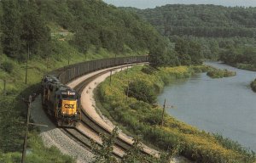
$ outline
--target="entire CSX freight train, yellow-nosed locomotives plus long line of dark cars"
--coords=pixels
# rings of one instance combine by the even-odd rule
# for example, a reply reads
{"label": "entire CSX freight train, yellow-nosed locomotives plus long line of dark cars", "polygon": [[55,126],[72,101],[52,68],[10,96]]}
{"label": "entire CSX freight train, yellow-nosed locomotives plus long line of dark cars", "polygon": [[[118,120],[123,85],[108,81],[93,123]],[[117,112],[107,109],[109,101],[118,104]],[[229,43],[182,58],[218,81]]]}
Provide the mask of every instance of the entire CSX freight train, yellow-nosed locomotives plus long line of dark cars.
{"label": "entire CSX freight train, yellow-nosed locomotives plus long line of dark cars", "polygon": [[76,126],[80,117],[79,94],[64,84],[96,70],[148,62],[148,55],[90,60],[53,70],[41,82],[42,104],[58,126]]}

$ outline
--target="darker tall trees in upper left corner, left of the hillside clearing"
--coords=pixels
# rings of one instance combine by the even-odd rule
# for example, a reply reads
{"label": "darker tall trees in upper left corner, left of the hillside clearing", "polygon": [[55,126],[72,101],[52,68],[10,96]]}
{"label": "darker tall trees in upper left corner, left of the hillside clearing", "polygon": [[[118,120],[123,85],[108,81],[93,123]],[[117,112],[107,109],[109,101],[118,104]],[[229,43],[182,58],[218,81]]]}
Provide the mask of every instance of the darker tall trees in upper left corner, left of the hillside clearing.
{"label": "darker tall trees in upper left corner, left of the hillside clearing", "polygon": [[3,6],[3,53],[25,59],[29,47],[35,55],[50,52],[50,35],[34,1],[1,1]]}

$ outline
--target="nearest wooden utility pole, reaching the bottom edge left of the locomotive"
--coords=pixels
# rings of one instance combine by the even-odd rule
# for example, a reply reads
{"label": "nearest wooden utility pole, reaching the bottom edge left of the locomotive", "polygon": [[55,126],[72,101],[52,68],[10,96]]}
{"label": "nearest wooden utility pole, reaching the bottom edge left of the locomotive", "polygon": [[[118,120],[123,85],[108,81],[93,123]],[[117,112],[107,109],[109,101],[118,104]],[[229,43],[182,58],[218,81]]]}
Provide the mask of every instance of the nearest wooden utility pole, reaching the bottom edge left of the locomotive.
{"label": "nearest wooden utility pole, reaching the bottom edge left of the locomotive", "polygon": [[31,103],[32,103],[32,95],[29,95],[28,101],[25,100],[25,102],[28,104],[28,106],[27,106],[27,115],[26,115],[26,132],[25,132],[24,143],[23,143],[21,163],[25,163],[25,159],[26,159],[26,143],[27,143],[28,126],[29,125],[46,126],[46,125],[42,125],[42,124],[36,124],[36,123],[29,122]]}

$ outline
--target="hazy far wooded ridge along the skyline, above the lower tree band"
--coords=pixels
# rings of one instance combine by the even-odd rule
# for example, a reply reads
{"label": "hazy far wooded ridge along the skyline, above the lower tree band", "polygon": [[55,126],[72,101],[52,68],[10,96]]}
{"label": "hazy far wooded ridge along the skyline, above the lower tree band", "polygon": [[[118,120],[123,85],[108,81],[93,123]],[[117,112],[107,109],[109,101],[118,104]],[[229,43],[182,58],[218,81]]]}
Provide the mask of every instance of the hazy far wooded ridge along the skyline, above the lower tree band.
{"label": "hazy far wooded ridge along the skyline, above the lower tree band", "polygon": [[168,4],[152,9],[133,9],[165,36],[195,37],[254,37],[255,10],[211,4]]}

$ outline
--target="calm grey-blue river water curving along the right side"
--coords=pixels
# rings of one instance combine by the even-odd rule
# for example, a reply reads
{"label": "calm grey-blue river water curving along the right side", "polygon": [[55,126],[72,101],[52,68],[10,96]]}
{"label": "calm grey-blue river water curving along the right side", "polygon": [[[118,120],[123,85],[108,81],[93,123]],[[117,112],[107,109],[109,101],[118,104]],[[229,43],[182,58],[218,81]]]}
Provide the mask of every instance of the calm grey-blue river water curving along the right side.
{"label": "calm grey-blue river water curving along the right side", "polygon": [[256,93],[249,84],[256,72],[207,62],[236,76],[212,79],[206,73],[178,79],[166,86],[158,102],[172,105],[166,113],[199,129],[222,134],[256,151]]}

